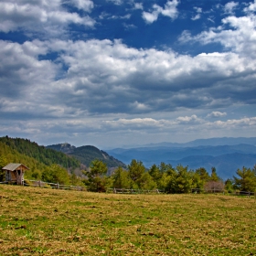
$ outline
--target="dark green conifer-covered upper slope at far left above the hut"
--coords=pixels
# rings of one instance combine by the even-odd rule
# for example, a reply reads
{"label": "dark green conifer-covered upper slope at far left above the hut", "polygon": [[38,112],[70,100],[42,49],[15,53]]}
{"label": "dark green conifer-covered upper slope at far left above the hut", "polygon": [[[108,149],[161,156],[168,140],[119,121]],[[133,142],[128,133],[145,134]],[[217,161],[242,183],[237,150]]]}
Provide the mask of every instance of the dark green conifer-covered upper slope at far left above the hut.
{"label": "dark green conifer-covered upper slope at far left above the hut", "polygon": [[[5,155],[10,154],[9,149],[11,149],[13,153],[15,151],[21,155],[32,157],[43,165],[58,164],[67,169],[80,167],[80,161],[78,159],[65,155],[62,152],[46,148],[45,146],[40,146],[27,139],[10,138],[5,136],[0,138],[0,143],[7,145],[7,147],[5,147],[7,150]],[[20,160],[21,162],[24,162],[22,159]]]}

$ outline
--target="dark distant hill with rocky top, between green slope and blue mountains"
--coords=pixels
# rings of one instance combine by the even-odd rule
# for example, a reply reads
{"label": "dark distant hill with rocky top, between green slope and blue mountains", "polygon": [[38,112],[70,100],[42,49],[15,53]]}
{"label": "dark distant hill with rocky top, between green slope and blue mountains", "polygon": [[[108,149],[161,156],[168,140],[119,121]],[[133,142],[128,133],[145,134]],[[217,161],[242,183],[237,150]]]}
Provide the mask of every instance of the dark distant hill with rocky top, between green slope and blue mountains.
{"label": "dark distant hill with rocky top, between green slope and blue mountains", "polygon": [[95,159],[101,160],[103,163],[107,164],[109,168],[117,166],[126,166],[123,164],[123,162],[112,157],[111,155],[108,155],[106,152],[92,145],[83,145],[80,147],[75,147],[73,145],[65,143],[48,145],[47,148],[58,150],[67,155],[74,156],[76,159],[80,161],[81,164],[86,166],[90,166],[91,161]]}

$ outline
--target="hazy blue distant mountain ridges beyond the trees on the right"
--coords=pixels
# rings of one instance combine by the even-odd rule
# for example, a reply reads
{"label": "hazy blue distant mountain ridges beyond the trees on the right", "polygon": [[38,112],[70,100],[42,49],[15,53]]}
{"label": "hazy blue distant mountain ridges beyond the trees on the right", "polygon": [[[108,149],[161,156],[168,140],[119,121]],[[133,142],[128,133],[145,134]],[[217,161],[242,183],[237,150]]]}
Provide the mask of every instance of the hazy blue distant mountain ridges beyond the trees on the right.
{"label": "hazy blue distant mountain ridges beyond the trees on the right", "polygon": [[115,148],[108,154],[129,164],[137,159],[146,167],[161,162],[171,165],[188,165],[191,169],[205,167],[208,171],[215,166],[223,179],[234,176],[242,166],[256,164],[256,137],[200,139],[186,144],[146,144],[142,147]]}

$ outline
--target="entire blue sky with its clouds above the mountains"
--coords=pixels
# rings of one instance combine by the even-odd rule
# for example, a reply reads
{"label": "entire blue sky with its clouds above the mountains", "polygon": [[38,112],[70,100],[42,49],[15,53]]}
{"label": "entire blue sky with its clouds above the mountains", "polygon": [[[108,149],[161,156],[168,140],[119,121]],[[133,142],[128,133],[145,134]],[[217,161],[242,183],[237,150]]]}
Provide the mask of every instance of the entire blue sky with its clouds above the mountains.
{"label": "entire blue sky with its clouds above the mountains", "polygon": [[0,0],[0,136],[104,148],[256,135],[256,0]]}

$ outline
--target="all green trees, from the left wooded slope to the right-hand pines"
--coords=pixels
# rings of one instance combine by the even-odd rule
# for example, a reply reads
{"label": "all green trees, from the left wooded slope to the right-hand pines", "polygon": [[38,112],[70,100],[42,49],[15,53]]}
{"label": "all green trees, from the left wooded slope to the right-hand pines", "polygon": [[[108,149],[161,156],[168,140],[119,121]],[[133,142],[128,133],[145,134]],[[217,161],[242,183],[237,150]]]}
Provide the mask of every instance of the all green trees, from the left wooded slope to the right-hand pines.
{"label": "all green trees, from the left wooded slope to the right-hand pines", "polygon": [[[53,149],[39,146],[26,139],[0,138],[0,168],[8,163],[22,163],[29,167],[26,179],[36,179],[65,185],[83,186],[89,191],[104,192],[108,188],[158,189],[165,193],[190,193],[194,191],[256,191],[256,165],[242,166],[236,176],[222,180],[216,168],[211,172],[204,167],[196,170],[188,166],[161,163],[146,168],[142,161],[133,159],[126,167],[109,166],[99,159],[91,165],[80,165],[80,161]],[[82,168],[81,168],[82,167]],[[78,171],[79,170],[79,171]],[[4,171],[0,181],[5,181]]]}

